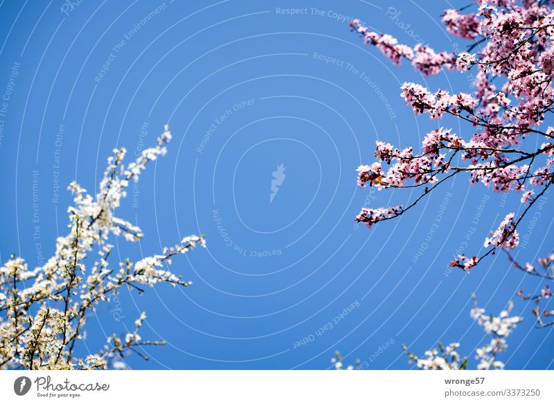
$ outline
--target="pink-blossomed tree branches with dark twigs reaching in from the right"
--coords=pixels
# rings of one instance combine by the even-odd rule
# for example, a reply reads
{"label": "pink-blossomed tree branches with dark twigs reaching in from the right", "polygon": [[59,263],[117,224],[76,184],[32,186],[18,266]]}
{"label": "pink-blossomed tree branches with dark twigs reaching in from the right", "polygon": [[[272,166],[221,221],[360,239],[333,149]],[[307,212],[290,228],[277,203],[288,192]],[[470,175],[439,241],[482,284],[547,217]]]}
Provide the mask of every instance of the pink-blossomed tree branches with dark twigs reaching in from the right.
{"label": "pink-blossomed tree branches with dark twigs reaching in from the right", "polygon": [[[552,2],[476,3],[473,13],[446,10],[443,14],[449,33],[471,41],[467,51],[458,55],[436,52],[422,44],[412,48],[399,44],[391,35],[373,32],[358,19],[350,23],[366,44],[375,46],[394,64],[411,62],[425,76],[445,69],[475,71],[472,94],[450,94],[413,82],[402,85],[402,98],[415,114],[427,114],[431,120],[453,116],[470,128],[472,135],[468,139],[451,129],[436,128],[425,136],[421,148],[400,150],[377,141],[376,161],[358,168],[361,187],[422,190],[406,206],[361,209],[356,220],[368,227],[403,215],[455,175],[467,175],[471,184],[481,182],[495,192],[519,194],[521,213],[506,215],[498,229],[485,238],[485,252],[480,256],[456,256],[450,263],[465,271],[499,249],[515,249],[521,220],[554,182],[554,128],[545,124],[554,112]],[[536,266],[513,263],[527,274],[553,279],[553,261],[551,255]],[[523,291],[520,294],[537,304],[552,296],[548,286],[537,296],[524,295]],[[534,313],[539,326],[554,324],[544,319],[554,313],[541,313],[538,307]]]}

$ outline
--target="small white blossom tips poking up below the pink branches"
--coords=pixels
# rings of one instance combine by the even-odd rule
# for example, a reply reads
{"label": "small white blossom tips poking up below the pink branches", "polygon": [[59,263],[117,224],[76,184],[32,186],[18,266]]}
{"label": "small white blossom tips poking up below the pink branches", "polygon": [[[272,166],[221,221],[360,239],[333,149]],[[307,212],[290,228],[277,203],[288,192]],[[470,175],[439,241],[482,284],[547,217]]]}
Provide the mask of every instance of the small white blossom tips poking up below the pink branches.
{"label": "small white blossom tips poking up below the pink branches", "polygon": [[[500,315],[487,315],[485,309],[477,306],[477,302],[474,301],[474,308],[471,310],[471,317],[480,326],[483,327],[485,333],[492,335],[492,338],[488,344],[476,349],[475,358],[479,360],[477,370],[490,370],[490,369],[503,369],[504,364],[497,359],[497,355],[506,351],[508,344],[506,344],[506,338],[512,333],[513,328],[517,326],[519,322],[523,320],[519,316],[510,316],[513,304],[510,301],[508,308],[503,310]],[[438,343],[438,348],[430,349],[424,353],[423,357],[418,357],[414,353],[411,353],[405,345],[402,345],[402,349],[409,357],[410,363],[415,363],[418,369],[425,370],[465,370],[467,369],[467,358],[461,358],[458,353],[460,344],[454,342],[447,346],[442,343]],[[335,352],[335,357],[331,362],[334,363],[334,367],[337,370],[345,369],[343,367],[341,354],[339,351]],[[347,370],[360,369],[359,360],[356,361],[356,365],[349,365]]]}

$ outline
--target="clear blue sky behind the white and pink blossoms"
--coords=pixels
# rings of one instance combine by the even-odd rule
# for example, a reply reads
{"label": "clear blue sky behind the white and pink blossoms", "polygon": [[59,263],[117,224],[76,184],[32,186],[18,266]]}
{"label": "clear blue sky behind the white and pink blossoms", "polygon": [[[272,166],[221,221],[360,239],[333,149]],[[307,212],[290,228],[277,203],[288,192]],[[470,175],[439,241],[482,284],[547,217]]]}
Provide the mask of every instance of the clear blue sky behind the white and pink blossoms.
{"label": "clear blue sky behind the white and pink blossoms", "polygon": [[[370,230],[353,220],[365,204],[416,196],[357,188],[355,169],[373,161],[375,140],[418,145],[437,126],[471,134],[415,117],[402,82],[469,91],[470,77],[394,67],[347,21],[458,51],[467,44],[445,33],[440,15],[466,3],[2,1],[1,260],[15,253],[39,265],[66,230],[66,184],[94,191],[112,148],[131,157],[170,123],[168,155],[119,212],[145,237],[118,240],[114,255],[138,259],[206,234],[206,250],[172,266],[194,285],[140,298],[125,290],[89,319],[81,353],[144,310],[143,337],[168,345],[149,349],[150,362],[129,357],[135,369],[326,369],[335,349],[346,362],[380,351],[369,369],[410,369],[401,344],[423,353],[438,340],[461,342],[471,366],[487,341],[469,314],[475,292],[491,313],[515,299],[527,317],[501,356],[508,369],[553,368],[552,328],[535,329],[530,304],[514,296],[537,290],[537,279],[503,254],[471,274],[447,269],[521,209],[517,195],[457,177],[399,220]],[[546,208],[529,213],[519,261],[549,251],[552,220]]]}

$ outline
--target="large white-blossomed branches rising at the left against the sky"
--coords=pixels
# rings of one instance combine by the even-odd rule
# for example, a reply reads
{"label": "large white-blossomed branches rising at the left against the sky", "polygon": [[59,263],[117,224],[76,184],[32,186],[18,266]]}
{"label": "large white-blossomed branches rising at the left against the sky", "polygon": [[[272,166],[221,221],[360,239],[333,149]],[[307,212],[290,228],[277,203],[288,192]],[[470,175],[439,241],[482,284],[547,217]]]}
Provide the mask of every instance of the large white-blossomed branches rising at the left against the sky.
{"label": "large white-blossomed branches rising at the left against the sky", "polygon": [[[114,149],[93,197],[75,182],[69,185],[73,207],[69,207],[69,233],[56,240],[55,254],[42,267],[29,270],[23,258],[12,256],[0,267],[0,369],[106,369],[121,368],[118,359],[137,346],[159,345],[163,341],[143,341],[139,330],[145,313],[135,321],[132,333],[122,339],[115,334],[99,353],[78,358],[75,344],[86,336],[87,316],[102,301],[109,301],[123,287],[143,289],[169,283],[190,286],[181,276],[164,269],[172,256],[186,253],[197,245],[205,247],[204,236],[188,236],[162,254],[116,265],[109,263],[112,245],[109,236],[136,241],[143,236],[131,222],[114,216],[125,197],[129,181],[138,181],[148,162],[166,154],[171,140],[168,125],[157,145],[143,150],[125,166],[125,148]],[[87,258],[98,254],[95,261]]]}

